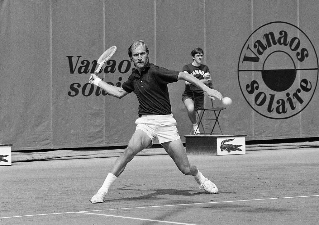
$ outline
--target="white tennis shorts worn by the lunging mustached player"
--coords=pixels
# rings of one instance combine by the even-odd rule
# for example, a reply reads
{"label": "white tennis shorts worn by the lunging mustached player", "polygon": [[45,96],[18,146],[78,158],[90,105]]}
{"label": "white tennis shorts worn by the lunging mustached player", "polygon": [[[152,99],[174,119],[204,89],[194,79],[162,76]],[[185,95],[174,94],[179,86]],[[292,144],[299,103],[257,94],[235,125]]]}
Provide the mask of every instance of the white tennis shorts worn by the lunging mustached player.
{"label": "white tennis shorts worn by the lunging mustached player", "polygon": [[156,139],[161,144],[181,138],[178,134],[173,114],[157,116],[142,115],[135,121],[135,124],[137,125],[135,130],[144,131],[152,139],[152,143],[148,147],[151,147]]}

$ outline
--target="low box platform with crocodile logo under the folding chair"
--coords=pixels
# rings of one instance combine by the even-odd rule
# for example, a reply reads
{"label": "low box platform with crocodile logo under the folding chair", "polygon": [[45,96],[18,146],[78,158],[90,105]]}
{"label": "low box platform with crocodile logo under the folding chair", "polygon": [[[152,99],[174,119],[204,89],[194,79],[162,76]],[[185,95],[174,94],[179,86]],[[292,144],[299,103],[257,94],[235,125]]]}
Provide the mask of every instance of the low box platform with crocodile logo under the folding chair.
{"label": "low box platform with crocodile logo under the folding chair", "polygon": [[245,154],[246,135],[185,135],[186,152],[195,155]]}

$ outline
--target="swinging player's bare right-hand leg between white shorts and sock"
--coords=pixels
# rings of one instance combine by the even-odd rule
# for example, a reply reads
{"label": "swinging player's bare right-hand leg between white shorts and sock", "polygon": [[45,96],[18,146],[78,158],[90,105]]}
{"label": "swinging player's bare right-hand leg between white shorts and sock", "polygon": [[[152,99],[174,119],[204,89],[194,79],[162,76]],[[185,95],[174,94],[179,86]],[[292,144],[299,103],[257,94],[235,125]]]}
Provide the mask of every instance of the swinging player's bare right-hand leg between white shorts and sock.
{"label": "swinging player's bare right-hand leg between white shorts and sock", "polygon": [[174,160],[176,166],[183,174],[192,176],[197,175],[197,167],[189,164],[188,157],[181,139],[162,143],[162,146],[169,156]]}

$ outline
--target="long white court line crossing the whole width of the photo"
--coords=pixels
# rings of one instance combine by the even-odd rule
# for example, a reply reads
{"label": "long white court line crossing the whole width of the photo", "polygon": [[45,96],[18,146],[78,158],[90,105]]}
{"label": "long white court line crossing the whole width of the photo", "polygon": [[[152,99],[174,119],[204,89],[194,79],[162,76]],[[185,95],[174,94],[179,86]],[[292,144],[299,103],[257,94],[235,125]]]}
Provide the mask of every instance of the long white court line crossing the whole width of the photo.
{"label": "long white court line crossing the whole width of the photo", "polygon": [[169,206],[186,206],[186,205],[216,204],[216,203],[229,203],[229,202],[241,202],[241,201],[262,201],[262,200],[276,200],[276,199],[288,199],[288,198],[306,198],[306,197],[319,197],[319,195],[306,195],[306,196],[294,196],[294,197],[278,197],[278,198],[259,198],[259,199],[233,200],[233,201],[214,201],[214,202],[210,201],[210,202],[186,203],[186,204],[177,204],[177,205],[142,206],[142,207],[131,207],[131,208],[112,208],[112,209],[99,209],[99,210],[75,211],[75,212],[64,212],[64,213],[46,213],[46,214],[21,215],[21,216],[6,216],[6,217],[0,217],[0,219],[26,217],[26,216],[68,214],[68,213],[86,213],[86,212],[110,211],[110,210],[121,210],[121,209],[155,208],[155,207],[169,207]]}

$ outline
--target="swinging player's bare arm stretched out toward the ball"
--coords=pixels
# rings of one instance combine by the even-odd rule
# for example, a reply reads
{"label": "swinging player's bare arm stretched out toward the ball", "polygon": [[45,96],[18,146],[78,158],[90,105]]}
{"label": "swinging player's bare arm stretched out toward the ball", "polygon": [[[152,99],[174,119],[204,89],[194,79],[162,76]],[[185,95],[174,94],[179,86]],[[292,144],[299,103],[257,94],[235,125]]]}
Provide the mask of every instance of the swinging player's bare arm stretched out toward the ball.
{"label": "swinging player's bare arm stretched out toward the ball", "polygon": [[219,100],[221,100],[223,98],[221,93],[219,93],[218,91],[216,91],[214,89],[211,89],[208,86],[204,85],[203,82],[201,82],[201,80],[199,80],[196,77],[190,75],[189,73],[180,72],[178,74],[178,78],[177,79],[178,80],[187,81],[190,84],[197,86],[198,88],[202,89],[208,95],[209,98],[211,98],[213,100],[215,100],[215,98],[218,98]]}

